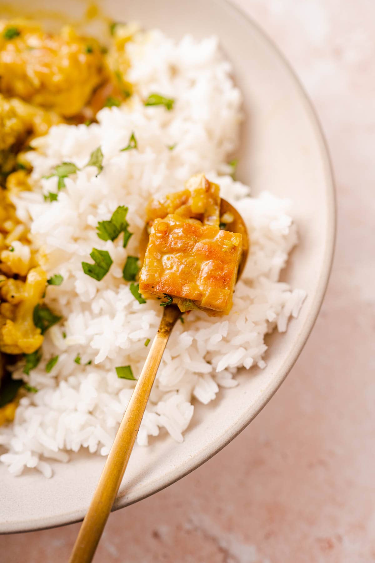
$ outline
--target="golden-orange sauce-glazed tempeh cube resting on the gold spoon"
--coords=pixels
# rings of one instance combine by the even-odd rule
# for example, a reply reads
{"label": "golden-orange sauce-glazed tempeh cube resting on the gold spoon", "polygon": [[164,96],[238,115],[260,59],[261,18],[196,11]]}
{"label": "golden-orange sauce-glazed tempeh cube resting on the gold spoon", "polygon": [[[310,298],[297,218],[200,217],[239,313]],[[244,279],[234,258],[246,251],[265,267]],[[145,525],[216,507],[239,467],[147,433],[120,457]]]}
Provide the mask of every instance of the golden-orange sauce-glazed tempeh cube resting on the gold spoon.
{"label": "golden-orange sauce-glazed tempeh cube resting on the gold spoon", "polygon": [[178,215],[157,218],[139,274],[139,292],[144,297],[173,297],[182,311],[228,314],[241,252],[241,234]]}

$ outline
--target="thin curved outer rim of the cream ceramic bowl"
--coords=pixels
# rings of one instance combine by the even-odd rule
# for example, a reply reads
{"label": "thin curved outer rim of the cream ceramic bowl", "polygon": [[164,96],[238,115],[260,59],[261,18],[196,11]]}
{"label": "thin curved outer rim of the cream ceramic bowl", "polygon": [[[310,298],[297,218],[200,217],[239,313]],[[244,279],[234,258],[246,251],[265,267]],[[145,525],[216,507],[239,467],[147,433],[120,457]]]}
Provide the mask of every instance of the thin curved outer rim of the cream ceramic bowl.
{"label": "thin curved outer rim of the cream ceramic bowl", "polygon": [[[212,1],[212,0],[211,0]],[[326,245],[324,248],[324,255],[323,255],[323,266],[322,270],[320,271],[320,276],[318,279],[317,284],[317,291],[315,292],[311,304],[310,304],[310,311],[308,320],[306,321],[304,327],[301,330],[299,339],[296,345],[292,348],[291,354],[288,356],[287,361],[285,361],[278,370],[278,377],[275,377],[272,385],[268,387],[268,390],[265,394],[259,399],[255,405],[254,410],[249,415],[246,413],[242,415],[242,417],[232,425],[228,427],[227,430],[223,433],[222,436],[219,437],[217,443],[215,444],[214,448],[202,448],[198,450],[196,454],[189,460],[188,463],[184,464],[184,467],[176,467],[168,474],[168,480],[159,479],[156,482],[150,481],[147,487],[142,489],[142,492],[135,495],[133,498],[129,499],[127,495],[123,495],[121,497],[117,497],[112,507],[112,512],[119,510],[120,508],[124,508],[125,506],[130,506],[130,504],[134,504],[135,502],[141,501],[144,498],[150,497],[154,493],[158,493],[162,489],[165,489],[167,486],[172,485],[182,477],[185,477],[196,468],[200,467],[203,463],[208,461],[210,458],[214,457],[215,454],[220,452],[229,442],[231,442],[242,430],[244,430],[250,422],[256,417],[257,414],[264,408],[264,406],[268,403],[270,399],[272,399],[275,392],[281,386],[284,379],[286,379],[288,373],[292,369],[293,365],[296,363],[297,358],[299,357],[302,348],[304,347],[311,330],[314,327],[315,321],[317,320],[320,307],[322,306],[324,294],[326,293],[329,275],[332,269],[333,263],[333,256],[335,253],[335,244],[336,244],[336,223],[337,223],[337,204],[336,204],[336,190],[335,190],[335,180],[333,175],[333,167],[331,162],[331,157],[329,155],[328,145],[326,141],[326,137],[324,136],[322,125],[320,124],[320,120],[318,118],[317,111],[315,110],[313,103],[311,102],[308,93],[306,92],[305,88],[302,86],[300,79],[297,77],[297,74],[293,70],[290,62],[284,56],[282,51],[279,49],[277,44],[273,41],[269,35],[264,32],[259,24],[257,24],[251,16],[246,14],[240,7],[234,5],[231,0],[213,0],[217,5],[225,6],[227,10],[232,12],[234,18],[238,20],[245,20],[247,25],[250,25],[254,32],[263,39],[269,46],[272,48],[275,55],[277,55],[278,59],[281,61],[283,66],[286,68],[290,77],[292,78],[297,90],[299,90],[301,101],[303,102],[304,109],[306,112],[307,117],[311,123],[311,127],[314,129],[315,138],[317,139],[319,145],[319,152],[320,158],[323,164],[324,170],[324,177],[326,178],[327,183],[327,190],[326,190],[326,205],[328,210],[328,217],[330,218],[329,225],[327,227],[327,239]],[[44,530],[48,528],[55,528],[58,526],[63,526],[67,524],[74,524],[75,522],[80,522],[83,520],[85,516],[85,512],[83,510],[64,513],[59,516],[50,516],[46,517],[45,519],[41,519],[37,526],[35,526],[35,521],[30,522],[20,522],[18,525],[14,522],[11,524],[11,529],[7,529],[7,525],[3,526],[3,529],[0,530],[1,534],[12,534],[12,533],[21,533],[25,531],[37,531],[37,530]]]}

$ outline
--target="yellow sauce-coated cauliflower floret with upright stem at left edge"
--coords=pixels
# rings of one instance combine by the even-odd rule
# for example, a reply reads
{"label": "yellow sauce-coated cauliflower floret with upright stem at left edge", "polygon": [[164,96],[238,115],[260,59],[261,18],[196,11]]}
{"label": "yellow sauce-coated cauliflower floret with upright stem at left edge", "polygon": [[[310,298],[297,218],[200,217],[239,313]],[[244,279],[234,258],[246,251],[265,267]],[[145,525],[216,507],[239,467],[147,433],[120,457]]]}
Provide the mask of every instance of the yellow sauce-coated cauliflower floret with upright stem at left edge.
{"label": "yellow sauce-coated cauliflower floret with upright stem at left edge", "polygon": [[42,346],[44,337],[40,328],[34,325],[33,313],[46,284],[47,274],[42,268],[29,271],[24,287],[25,298],[17,305],[14,320],[0,315],[0,351],[5,354],[32,354]]}

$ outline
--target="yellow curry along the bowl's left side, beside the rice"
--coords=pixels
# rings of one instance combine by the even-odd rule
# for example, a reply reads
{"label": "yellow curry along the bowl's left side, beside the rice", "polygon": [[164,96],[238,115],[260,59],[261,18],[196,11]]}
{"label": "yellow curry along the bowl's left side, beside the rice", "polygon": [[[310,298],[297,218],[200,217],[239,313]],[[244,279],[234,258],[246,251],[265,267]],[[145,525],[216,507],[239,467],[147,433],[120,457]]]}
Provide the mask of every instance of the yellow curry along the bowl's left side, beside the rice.
{"label": "yellow curry along the bowl's left side, beside the rice", "polygon": [[[70,26],[50,34],[30,20],[0,20],[0,357],[37,353],[44,338],[33,314],[47,275],[10,199],[29,189],[30,140],[58,123],[95,119],[111,105],[109,96],[119,105],[131,95],[124,44],[137,32],[113,24],[107,48]],[[2,359],[0,386],[4,373]],[[13,419],[16,405],[0,400],[0,425]]]}

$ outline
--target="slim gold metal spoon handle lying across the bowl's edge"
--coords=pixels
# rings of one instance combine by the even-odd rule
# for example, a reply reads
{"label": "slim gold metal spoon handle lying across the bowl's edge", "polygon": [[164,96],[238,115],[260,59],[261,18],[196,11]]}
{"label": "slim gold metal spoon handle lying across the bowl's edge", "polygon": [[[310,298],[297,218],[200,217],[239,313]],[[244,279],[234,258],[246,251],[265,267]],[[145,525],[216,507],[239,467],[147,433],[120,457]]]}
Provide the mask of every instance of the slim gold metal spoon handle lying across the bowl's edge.
{"label": "slim gold metal spoon handle lying across the bowl's edge", "polygon": [[159,368],[169,335],[180,315],[181,312],[174,305],[164,309],[159,330],[153,339],[141,375],[126,407],[91,504],[79,530],[69,563],[92,561],[128,465],[157,368]]}

